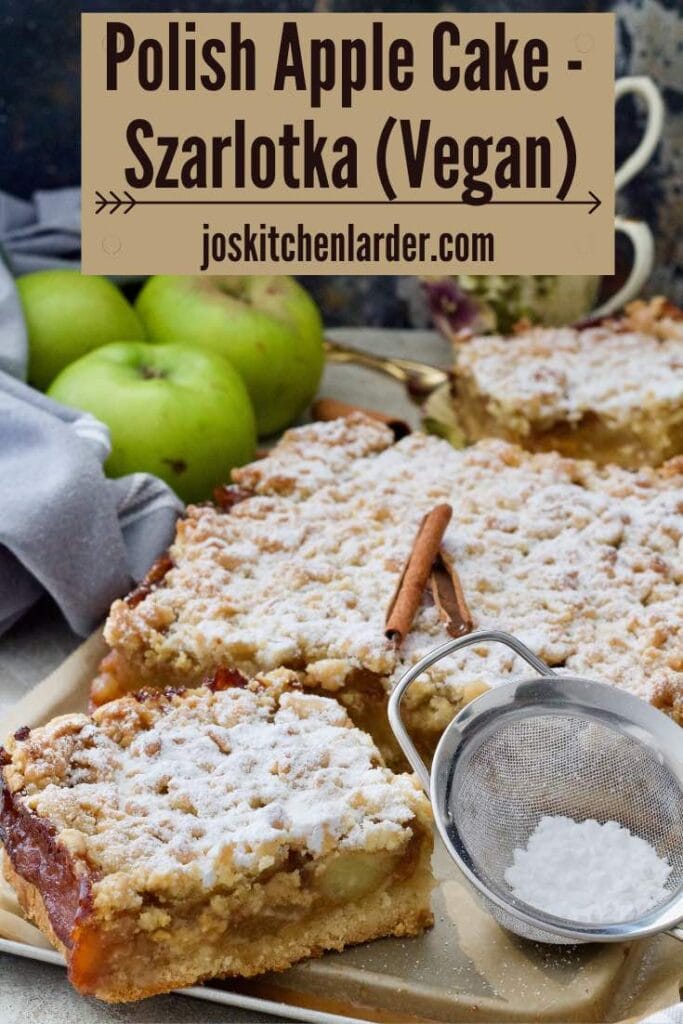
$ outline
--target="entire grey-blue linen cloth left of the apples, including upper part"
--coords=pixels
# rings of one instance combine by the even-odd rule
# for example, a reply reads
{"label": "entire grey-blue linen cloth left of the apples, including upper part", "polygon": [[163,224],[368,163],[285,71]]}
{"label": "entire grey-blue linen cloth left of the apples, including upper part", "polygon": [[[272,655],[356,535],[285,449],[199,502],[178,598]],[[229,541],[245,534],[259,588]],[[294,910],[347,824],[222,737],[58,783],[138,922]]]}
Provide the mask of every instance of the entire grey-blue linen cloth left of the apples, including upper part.
{"label": "entire grey-blue linen cloth left of the apples, including upper part", "polygon": [[[182,503],[162,480],[110,480],[106,427],[23,383],[28,342],[15,272],[78,254],[79,190],[0,194],[0,635],[47,592],[87,635],[170,543]],[[73,265],[73,264],[72,264]]]}

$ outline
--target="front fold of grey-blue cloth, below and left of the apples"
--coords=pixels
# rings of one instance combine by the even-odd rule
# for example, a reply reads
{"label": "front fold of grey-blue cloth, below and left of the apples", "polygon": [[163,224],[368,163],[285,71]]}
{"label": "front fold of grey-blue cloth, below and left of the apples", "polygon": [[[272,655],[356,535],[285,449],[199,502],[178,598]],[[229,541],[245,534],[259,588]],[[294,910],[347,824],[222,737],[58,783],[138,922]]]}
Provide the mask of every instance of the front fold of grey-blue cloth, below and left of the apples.
{"label": "front fold of grey-blue cloth, below and left of the apples", "polygon": [[104,476],[106,428],[0,373],[0,634],[44,592],[78,634],[170,543],[181,502],[161,480]]}

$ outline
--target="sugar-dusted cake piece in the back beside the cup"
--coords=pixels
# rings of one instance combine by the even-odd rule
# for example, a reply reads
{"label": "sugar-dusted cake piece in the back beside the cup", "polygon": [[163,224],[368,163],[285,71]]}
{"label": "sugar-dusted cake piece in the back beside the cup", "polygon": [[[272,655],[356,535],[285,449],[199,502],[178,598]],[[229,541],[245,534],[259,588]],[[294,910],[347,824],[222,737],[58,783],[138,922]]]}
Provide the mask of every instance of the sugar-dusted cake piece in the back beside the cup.
{"label": "sugar-dusted cake piece in the back beside the cup", "polygon": [[630,469],[683,453],[683,315],[661,299],[592,327],[455,347],[455,416],[469,441],[502,437]]}

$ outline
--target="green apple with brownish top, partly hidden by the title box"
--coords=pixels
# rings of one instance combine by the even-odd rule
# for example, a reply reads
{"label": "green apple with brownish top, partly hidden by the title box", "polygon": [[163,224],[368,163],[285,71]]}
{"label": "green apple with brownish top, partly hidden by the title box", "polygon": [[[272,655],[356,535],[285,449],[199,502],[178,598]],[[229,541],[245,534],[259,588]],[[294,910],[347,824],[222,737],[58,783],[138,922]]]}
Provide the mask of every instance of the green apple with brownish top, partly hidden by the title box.
{"label": "green apple with brownish top, partly hidden by the title box", "polygon": [[292,278],[151,278],[136,309],[151,341],[182,339],[224,355],[242,375],[261,435],[292,423],[323,372],[317,306]]}

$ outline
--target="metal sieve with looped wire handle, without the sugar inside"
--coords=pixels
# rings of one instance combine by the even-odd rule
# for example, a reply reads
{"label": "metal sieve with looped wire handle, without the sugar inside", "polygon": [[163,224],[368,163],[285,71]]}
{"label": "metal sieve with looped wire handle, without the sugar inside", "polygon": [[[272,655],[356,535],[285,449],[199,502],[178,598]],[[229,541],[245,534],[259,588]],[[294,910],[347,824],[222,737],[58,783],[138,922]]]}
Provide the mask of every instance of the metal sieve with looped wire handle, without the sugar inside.
{"label": "metal sieve with looped wire handle, without the sugar inside", "polygon": [[[494,642],[539,677],[504,683],[467,705],[441,736],[430,776],[400,716],[405,690],[454,651]],[[557,676],[515,637],[490,631],[449,641],[407,672],[391,694],[389,721],[431,798],[446,849],[505,928],[552,943],[661,931],[683,939],[683,732],[660,711],[604,683]],[[505,871],[546,814],[618,821],[640,836],[672,865],[667,897],[637,920],[590,925],[518,899]]]}

